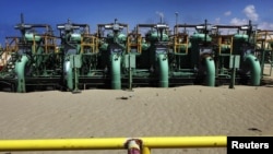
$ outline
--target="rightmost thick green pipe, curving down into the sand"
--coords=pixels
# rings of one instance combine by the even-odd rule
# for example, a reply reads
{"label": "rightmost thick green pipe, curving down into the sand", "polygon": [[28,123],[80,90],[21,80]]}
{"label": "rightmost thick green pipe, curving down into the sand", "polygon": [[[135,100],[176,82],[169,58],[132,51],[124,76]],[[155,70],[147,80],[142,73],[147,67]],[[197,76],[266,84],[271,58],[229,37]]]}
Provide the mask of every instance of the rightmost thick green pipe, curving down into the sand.
{"label": "rightmost thick green pipe, curving down into the sand", "polygon": [[246,55],[245,56],[245,62],[251,67],[250,69],[250,79],[251,79],[251,85],[258,86],[261,82],[261,66],[258,60],[258,58],[253,55]]}

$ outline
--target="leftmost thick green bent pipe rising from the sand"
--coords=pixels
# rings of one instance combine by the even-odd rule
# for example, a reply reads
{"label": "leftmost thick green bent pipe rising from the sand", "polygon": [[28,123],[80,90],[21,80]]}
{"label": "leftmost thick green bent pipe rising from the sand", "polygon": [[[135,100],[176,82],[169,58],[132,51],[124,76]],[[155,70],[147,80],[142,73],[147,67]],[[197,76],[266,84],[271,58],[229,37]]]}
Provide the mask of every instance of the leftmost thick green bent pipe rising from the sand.
{"label": "leftmost thick green bent pipe rising from the sand", "polygon": [[17,75],[17,92],[25,93],[25,64],[28,57],[23,55],[20,61],[15,63],[15,73]]}

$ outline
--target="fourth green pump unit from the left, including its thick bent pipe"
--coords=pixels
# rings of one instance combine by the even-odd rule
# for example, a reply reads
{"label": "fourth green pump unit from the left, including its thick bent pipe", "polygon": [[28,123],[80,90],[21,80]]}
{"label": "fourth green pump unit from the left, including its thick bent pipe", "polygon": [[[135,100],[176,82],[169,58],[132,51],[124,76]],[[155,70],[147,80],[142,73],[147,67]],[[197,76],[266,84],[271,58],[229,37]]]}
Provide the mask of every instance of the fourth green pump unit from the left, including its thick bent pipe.
{"label": "fourth green pump unit from the left, including its thick bent pipe", "polygon": [[[145,34],[141,31],[149,28]],[[144,35],[144,36],[143,36]],[[147,84],[168,87],[168,25],[138,24],[136,32],[129,35],[129,81],[133,84]]]}

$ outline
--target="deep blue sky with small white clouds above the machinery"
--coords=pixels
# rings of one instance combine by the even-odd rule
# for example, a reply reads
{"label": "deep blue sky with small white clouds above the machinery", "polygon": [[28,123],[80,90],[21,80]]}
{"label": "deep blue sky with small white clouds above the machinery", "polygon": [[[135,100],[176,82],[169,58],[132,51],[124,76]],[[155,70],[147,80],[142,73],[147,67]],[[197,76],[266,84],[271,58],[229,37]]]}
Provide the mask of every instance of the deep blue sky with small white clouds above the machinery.
{"label": "deep blue sky with small white clouds above the machinery", "polygon": [[[242,25],[249,20],[261,29],[273,29],[273,0],[1,0],[0,44],[5,36],[20,36],[14,25],[20,14],[28,24],[49,24],[58,35],[57,24],[88,24],[91,33],[97,24],[156,24],[161,17],[174,27],[179,24]],[[173,28],[171,28],[173,29]]]}

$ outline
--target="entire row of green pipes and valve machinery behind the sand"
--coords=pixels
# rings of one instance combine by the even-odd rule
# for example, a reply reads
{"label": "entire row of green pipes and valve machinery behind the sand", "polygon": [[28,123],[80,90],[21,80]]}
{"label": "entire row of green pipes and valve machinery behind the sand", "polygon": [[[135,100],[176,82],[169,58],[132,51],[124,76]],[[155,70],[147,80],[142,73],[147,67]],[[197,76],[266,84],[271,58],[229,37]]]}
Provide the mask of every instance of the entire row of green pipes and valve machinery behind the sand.
{"label": "entire row of green pipes and valve machinery behind the sand", "polygon": [[[49,43],[46,42],[47,34],[29,31],[29,27],[40,26],[47,27],[46,25],[24,26],[23,23],[17,25],[17,29],[22,29],[22,37],[17,39],[19,54],[15,54],[14,60],[9,61],[10,66],[3,66],[5,68],[2,72],[1,72],[4,74],[1,79],[5,81],[11,81],[8,78],[12,76],[14,71],[16,72],[19,79],[14,78],[11,82],[13,84],[17,80],[15,87],[12,87],[14,91],[26,92],[28,90],[26,85],[36,83],[45,86],[57,85],[57,88],[64,85],[64,88],[71,92],[91,86],[120,90],[121,85],[127,84],[132,88],[133,84],[154,85],[155,82],[158,87],[194,84],[200,81],[204,81],[202,84],[206,86],[215,86],[215,80],[226,81],[232,78],[228,68],[232,55],[240,56],[239,64],[242,67],[236,69],[250,76],[251,85],[260,85],[262,69],[253,55],[253,44],[250,42],[253,38],[250,34],[253,33],[239,34],[238,31],[230,42],[233,45],[222,44],[218,46],[221,52],[217,54],[219,49],[214,46],[215,39],[212,39],[215,36],[206,22],[204,29],[197,25],[179,25],[185,26],[185,29],[178,31],[176,37],[176,35],[169,35],[169,28],[165,24],[140,24],[135,31],[128,34],[129,31],[124,28],[127,24],[116,23],[115,20],[115,24],[98,24],[98,32],[93,35],[85,31],[86,24],[73,24],[69,21],[57,25],[60,37],[56,38],[60,38],[61,43],[57,42],[59,45],[54,46],[48,44],[48,48],[46,48],[46,43]],[[192,32],[186,29],[188,26],[197,32],[188,33]],[[149,28],[144,35],[143,31],[139,31],[142,27]],[[178,37],[185,34],[187,34],[187,42],[185,37]],[[188,46],[185,45],[186,43]],[[270,45],[273,46],[273,44]],[[58,47],[58,54],[55,50],[56,47]],[[14,64],[15,70],[13,70]],[[29,75],[25,76],[25,72]],[[245,74],[241,75],[242,82],[247,79]],[[199,76],[202,79],[200,80]],[[52,82],[51,79],[54,79]],[[46,83],[48,81],[49,83]],[[60,86],[58,86],[59,81],[62,82]]]}

